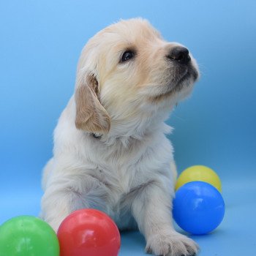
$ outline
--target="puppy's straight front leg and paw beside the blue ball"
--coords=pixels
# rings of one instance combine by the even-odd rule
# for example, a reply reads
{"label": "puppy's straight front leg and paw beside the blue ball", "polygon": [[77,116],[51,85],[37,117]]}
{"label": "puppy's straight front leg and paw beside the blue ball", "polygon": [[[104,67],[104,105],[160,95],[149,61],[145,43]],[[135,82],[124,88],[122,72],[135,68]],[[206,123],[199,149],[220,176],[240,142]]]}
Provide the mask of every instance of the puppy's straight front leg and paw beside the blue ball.
{"label": "puppy's straight front leg and paw beside the blue ball", "polygon": [[152,181],[138,189],[132,214],[146,238],[146,252],[165,256],[197,254],[197,244],[174,230],[170,191],[163,184]]}

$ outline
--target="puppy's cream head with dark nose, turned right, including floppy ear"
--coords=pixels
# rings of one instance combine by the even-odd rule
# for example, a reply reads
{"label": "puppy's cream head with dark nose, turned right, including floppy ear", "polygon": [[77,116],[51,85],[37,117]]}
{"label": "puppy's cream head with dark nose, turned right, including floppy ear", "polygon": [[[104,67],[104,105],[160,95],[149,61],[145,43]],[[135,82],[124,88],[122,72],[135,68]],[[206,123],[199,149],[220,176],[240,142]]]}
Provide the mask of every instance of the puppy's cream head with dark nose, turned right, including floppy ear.
{"label": "puppy's cream head with dark nose, turned right, including floppy ear", "polygon": [[198,77],[189,50],[166,42],[146,20],[121,20],[92,37],[75,86],[78,129],[107,133],[111,121],[170,110]]}

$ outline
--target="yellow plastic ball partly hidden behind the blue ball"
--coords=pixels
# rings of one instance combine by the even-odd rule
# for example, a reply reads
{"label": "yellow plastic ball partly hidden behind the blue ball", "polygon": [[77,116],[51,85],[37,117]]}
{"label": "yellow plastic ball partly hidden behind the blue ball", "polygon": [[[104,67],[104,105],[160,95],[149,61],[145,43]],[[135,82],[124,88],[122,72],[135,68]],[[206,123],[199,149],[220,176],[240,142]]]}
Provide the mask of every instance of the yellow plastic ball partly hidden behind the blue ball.
{"label": "yellow plastic ball partly hidden behind the blue ball", "polygon": [[191,181],[207,182],[217,188],[219,192],[222,192],[222,183],[219,176],[214,170],[204,165],[194,165],[184,170],[178,177],[175,189],[177,190],[179,187]]}

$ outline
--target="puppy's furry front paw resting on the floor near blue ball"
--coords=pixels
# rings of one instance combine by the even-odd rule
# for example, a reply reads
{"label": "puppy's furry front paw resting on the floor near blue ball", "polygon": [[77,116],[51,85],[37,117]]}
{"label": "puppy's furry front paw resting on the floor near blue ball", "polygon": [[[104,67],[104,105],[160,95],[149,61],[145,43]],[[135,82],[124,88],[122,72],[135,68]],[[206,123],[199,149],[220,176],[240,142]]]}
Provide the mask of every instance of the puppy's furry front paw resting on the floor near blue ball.
{"label": "puppy's furry front paw resting on the floor near blue ball", "polygon": [[195,256],[199,247],[180,233],[158,233],[148,238],[146,252],[162,256]]}

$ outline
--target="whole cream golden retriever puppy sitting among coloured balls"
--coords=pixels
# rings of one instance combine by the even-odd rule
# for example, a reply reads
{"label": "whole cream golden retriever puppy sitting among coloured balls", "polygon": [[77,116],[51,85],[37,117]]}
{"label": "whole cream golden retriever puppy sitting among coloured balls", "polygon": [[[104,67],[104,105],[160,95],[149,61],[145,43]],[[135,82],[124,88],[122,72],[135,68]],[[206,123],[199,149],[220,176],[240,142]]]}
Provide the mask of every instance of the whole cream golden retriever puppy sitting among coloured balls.
{"label": "whole cream golden retriever puppy sitting among coloured balls", "polygon": [[121,20],[92,37],[54,132],[42,218],[57,230],[72,211],[97,208],[121,230],[138,227],[146,252],[195,255],[195,242],[173,228],[176,167],[164,121],[197,77],[189,50],[146,20]]}

